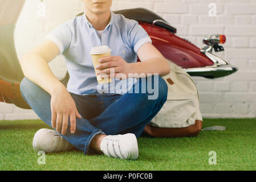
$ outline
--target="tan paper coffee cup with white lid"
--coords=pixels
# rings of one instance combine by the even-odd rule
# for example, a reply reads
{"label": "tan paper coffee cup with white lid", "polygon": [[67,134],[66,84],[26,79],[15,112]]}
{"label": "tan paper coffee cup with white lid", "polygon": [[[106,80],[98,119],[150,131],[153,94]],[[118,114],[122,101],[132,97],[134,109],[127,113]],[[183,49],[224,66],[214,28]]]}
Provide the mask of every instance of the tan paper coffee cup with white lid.
{"label": "tan paper coffee cup with white lid", "polygon": [[[92,62],[94,63],[94,70],[95,73],[99,71],[99,69],[96,69],[95,67],[100,64],[99,59],[101,57],[105,56],[111,56],[111,49],[108,46],[97,46],[93,47],[90,51],[90,55],[92,56]],[[109,82],[112,82],[111,78],[103,78],[96,74],[97,82],[99,84],[107,84]]]}

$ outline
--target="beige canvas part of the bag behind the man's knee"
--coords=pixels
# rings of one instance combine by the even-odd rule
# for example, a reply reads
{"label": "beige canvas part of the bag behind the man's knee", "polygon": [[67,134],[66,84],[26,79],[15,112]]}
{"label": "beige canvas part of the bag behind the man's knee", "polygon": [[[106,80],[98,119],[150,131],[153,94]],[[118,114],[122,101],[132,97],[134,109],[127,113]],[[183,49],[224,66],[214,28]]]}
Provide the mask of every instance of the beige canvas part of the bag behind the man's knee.
{"label": "beige canvas part of the bag behind the man's knee", "polygon": [[149,125],[164,128],[181,128],[202,121],[196,84],[184,69],[169,62],[170,73],[164,78],[168,85],[165,104]]}

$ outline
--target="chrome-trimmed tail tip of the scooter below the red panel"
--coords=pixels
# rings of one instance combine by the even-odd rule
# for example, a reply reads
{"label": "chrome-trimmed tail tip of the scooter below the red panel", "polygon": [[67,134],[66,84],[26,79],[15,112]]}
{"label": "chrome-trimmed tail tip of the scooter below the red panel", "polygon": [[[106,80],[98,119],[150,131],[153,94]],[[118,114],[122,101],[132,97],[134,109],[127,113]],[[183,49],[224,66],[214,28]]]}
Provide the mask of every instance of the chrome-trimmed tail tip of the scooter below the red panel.
{"label": "chrome-trimmed tail tip of the scooter below the red panel", "polygon": [[206,67],[197,67],[197,68],[184,68],[185,71],[190,76],[202,76],[206,78],[218,78],[230,75],[238,70],[237,67],[234,67],[231,64],[228,64],[226,61],[222,60],[220,57],[213,55],[209,52],[204,52],[210,60],[213,61],[213,65]]}

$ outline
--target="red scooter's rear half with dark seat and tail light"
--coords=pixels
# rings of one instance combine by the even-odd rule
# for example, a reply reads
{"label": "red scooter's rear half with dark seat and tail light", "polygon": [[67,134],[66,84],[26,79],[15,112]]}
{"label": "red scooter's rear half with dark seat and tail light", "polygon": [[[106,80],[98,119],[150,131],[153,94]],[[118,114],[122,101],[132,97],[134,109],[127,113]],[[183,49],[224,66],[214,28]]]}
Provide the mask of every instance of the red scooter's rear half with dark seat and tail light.
{"label": "red scooter's rear half with dark seat and tail light", "polygon": [[135,19],[148,32],[152,44],[159,49],[166,59],[184,68],[190,76],[203,76],[206,78],[218,78],[230,75],[237,71],[226,61],[212,54],[224,51],[219,44],[226,42],[225,35],[212,35],[204,38],[204,48],[200,49],[189,40],[176,36],[176,28],[159,15],[147,9],[129,9],[115,11],[126,18]]}

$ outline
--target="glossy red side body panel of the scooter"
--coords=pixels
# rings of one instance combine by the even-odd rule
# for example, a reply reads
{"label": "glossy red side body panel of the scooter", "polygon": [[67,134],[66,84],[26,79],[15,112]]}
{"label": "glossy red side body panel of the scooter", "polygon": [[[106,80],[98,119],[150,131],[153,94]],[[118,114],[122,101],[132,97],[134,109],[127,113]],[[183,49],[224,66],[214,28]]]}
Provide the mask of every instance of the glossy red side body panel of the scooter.
{"label": "glossy red side body panel of the scooter", "polygon": [[200,48],[172,34],[165,28],[144,22],[139,22],[139,24],[148,32],[153,46],[159,49],[166,59],[181,68],[206,67],[214,64],[200,51]]}

